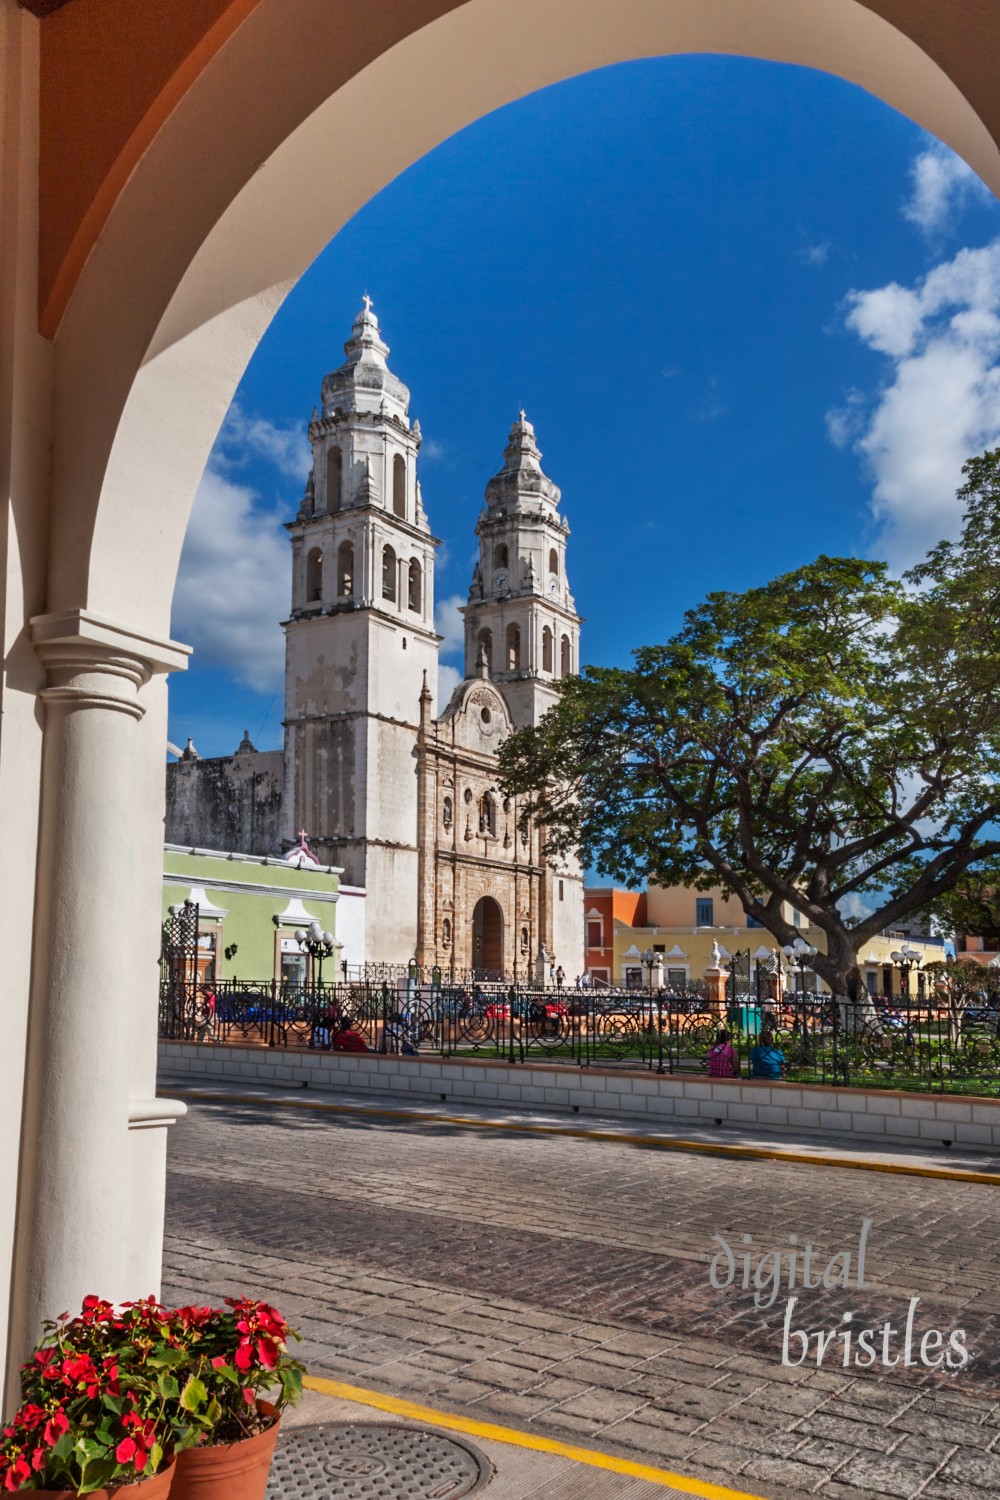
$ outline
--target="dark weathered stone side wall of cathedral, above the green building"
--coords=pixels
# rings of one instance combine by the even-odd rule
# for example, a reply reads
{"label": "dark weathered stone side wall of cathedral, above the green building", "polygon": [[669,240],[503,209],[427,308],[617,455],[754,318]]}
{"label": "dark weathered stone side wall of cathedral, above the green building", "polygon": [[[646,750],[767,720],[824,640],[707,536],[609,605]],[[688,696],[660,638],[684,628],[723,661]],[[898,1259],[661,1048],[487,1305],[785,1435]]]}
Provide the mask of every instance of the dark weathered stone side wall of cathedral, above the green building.
{"label": "dark weathered stone side wall of cathedral, above the green building", "polygon": [[166,766],[166,843],[226,854],[279,854],[280,750]]}

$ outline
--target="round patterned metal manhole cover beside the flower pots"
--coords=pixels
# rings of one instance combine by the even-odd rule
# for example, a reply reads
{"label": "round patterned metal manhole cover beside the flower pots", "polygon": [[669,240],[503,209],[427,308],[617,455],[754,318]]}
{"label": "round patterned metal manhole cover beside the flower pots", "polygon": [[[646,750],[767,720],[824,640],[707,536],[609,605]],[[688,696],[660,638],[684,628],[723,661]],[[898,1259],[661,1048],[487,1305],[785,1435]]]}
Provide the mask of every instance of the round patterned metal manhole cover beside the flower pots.
{"label": "round patterned metal manhole cover beside the flower pots", "polygon": [[330,1422],[282,1432],[267,1500],[459,1500],[489,1479],[486,1458],[441,1432]]}

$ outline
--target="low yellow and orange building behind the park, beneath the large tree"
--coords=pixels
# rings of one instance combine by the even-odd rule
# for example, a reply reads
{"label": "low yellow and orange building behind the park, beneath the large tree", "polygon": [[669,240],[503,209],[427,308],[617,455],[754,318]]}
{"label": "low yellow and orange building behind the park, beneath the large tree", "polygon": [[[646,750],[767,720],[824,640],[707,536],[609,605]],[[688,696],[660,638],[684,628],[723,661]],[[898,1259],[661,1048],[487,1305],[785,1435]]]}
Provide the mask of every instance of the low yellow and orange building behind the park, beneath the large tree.
{"label": "low yellow and orange building behind the park, beneath the large tree", "polygon": [[[625,894],[630,897],[628,903],[621,900]],[[618,915],[622,908],[634,912],[631,921]],[[693,981],[703,978],[714,964],[715,945],[726,968],[735,954],[750,952],[753,988],[757,966],[768,972],[765,966],[769,964],[769,972],[774,972],[780,952],[777,939],[759,922],[747,918],[735,896],[726,896],[720,890],[696,891],[685,885],[649,885],[645,892],[637,894],[591,886],[585,891],[585,912],[588,974],[598,982],[624,988],[645,988],[651,982],[667,990],[687,988]],[[601,915],[600,950],[598,914]],[[802,944],[819,951],[825,950],[825,934],[819,927],[810,927],[801,912],[787,906],[784,916]],[[903,958],[894,960],[894,952],[903,954]],[[916,957],[912,957],[913,954]],[[892,928],[873,938],[859,952],[858,963],[870,994],[898,996],[909,986],[909,993],[918,998],[927,988],[922,969],[943,957],[943,939],[909,938],[903,930]],[[781,968],[786,990],[826,992],[826,986],[808,963],[789,962],[781,954]]]}

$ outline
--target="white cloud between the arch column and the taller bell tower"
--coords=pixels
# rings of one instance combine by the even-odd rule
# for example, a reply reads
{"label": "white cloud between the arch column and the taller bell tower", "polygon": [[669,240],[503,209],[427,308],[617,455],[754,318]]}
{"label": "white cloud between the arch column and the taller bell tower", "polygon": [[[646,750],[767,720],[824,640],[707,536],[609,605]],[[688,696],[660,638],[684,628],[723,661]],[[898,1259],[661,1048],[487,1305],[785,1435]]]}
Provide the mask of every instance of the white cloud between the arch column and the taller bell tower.
{"label": "white cloud between the arch column and the taller bell tower", "polygon": [[280,516],[244,484],[205,470],[184,537],[172,633],[196,662],[226,668],[259,693],[280,687],[289,608],[288,542]]}

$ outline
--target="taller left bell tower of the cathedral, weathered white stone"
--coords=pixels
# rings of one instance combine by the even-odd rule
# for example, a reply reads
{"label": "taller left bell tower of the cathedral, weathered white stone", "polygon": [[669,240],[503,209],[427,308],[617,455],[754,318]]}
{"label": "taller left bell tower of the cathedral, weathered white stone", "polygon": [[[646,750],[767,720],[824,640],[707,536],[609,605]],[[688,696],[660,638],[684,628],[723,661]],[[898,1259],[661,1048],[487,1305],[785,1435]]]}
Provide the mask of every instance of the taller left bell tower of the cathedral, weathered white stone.
{"label": "taller left bell tower of the cathedral, weathered white stone", "polygon": [[420,424],[364,297],[346,362],[309,423],[285,621],[285,838],[364,886],[366,951],[406,962],[417,928],[415,746],[438,680],[433,560],[417,480]]}

